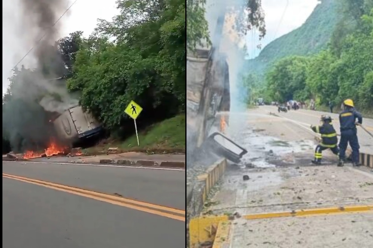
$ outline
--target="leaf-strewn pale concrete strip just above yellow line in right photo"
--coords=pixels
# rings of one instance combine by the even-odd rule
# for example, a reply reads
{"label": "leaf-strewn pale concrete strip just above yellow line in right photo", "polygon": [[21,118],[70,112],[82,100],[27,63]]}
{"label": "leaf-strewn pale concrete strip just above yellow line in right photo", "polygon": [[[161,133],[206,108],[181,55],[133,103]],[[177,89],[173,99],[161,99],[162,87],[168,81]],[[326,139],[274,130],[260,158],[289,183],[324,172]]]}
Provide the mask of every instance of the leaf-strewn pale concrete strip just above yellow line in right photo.
{"label": "leaf-strewn pale concrete strip just above yellow line in right photo", "polygon": [[332,165],[236,167],[226,172],[209,202],[203,212],[217,215],[373,204],[373,174]]}

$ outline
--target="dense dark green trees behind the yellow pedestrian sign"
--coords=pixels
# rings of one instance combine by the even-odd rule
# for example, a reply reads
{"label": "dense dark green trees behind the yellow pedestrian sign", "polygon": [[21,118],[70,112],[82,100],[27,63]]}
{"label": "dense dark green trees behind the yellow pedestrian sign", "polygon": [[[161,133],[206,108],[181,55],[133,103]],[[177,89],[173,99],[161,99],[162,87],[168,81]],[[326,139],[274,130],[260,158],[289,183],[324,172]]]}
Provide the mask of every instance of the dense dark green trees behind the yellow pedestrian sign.
{"label": "dense dark green trees behind the yellow pedestrian sign", "polygon": [[183,112],[184,2],[120,0],[117,8],[112,22],[101,20],[83,41],[69,90],[81,91],[81,105],[111,131],[125,129],[131,100],[144,108],[139,126]]}

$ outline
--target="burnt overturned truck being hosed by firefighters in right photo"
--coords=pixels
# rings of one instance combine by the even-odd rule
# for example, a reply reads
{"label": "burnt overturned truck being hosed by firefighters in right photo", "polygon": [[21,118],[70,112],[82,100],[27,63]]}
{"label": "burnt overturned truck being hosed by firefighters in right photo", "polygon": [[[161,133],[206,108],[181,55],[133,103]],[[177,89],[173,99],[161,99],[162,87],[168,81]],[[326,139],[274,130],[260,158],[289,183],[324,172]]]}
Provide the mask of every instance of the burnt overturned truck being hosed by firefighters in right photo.
{"label": "burnt overturned truck being hosed by firefighters in right photo", "polygon": [[[220,132],[212,132],[218,112],[229,123],[229,68],[223,54],[216,49],[197,49],[186,61],[186,156],[187,166],[206,156],[208,152],[233,162],[247,151]],[[215,123],[216,124],[216,123]],[[236,146],[240,152],[232,152]],[[235,149],[237,151],[237,149]]]}

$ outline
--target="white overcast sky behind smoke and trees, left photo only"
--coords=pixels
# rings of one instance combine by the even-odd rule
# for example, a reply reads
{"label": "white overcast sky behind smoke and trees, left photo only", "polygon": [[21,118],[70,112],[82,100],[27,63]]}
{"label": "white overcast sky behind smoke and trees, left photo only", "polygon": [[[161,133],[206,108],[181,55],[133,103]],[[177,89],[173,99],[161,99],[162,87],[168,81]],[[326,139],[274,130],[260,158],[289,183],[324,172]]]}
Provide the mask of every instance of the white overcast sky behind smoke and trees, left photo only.
{"label": "white overcast sky behind smoke and trees, left photo only", "polygon": [[[69,0],[69,6],[75,0]],[[19,0],[3,0],[3,93],[9,84],[7,78],[11,69],[28,52],[31,47],[24,47],[21,35],[16,36],[15,27],[19,24]],[[67,9],[67,8],[66,8]],[[62,11],[60,15],[63,14]],[[97,24],[97,18],[111,20],[118,13],[115,0],[77,0],[59,21],[62,24],[60,37],[81,30],[84,36],[89,36]],[[32,56],[25,58],[23,63],[32,63]]]}

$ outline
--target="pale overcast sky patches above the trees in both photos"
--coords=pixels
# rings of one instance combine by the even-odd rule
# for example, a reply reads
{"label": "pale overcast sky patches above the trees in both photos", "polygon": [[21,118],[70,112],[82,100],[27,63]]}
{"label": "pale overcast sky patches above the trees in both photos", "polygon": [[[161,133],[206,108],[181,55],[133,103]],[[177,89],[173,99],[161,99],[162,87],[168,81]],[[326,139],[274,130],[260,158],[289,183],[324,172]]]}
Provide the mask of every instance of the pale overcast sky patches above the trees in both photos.
{"label": "pale overcast sky patches above the trees in both photos", "polygon": [[[13,32],[15,26],[19,24],[18,1],[3,0],[3,93],[9,83],[7,78],[11,76],[10,70],[31,48],[22,45],[22,34],[16,36]],[[274,38],[301,26],[317,4],[317,0],[288,0],[289,4],[284,13],[286,1],[262,0],[267,26],[267,36],[260,42],[262,47]],[[73,0],[70,0],[70,3],[72,2]],[[111,20],[117,13],[115,0],[78,0],[68,14],[60,20],[62,23],[60,37],[77,30],[83,31],[84,36],[88,36],[95,28],[97,18]],[[284,17],[280,22],[283,13]],[[255,49],[258,41],[254,39],[252,45],[251,33],[248,35],[247,42],[250,56],[257,55],[260,52]],[[26,57],[21,64],[30,63],[32,63],[32,58]]]}

